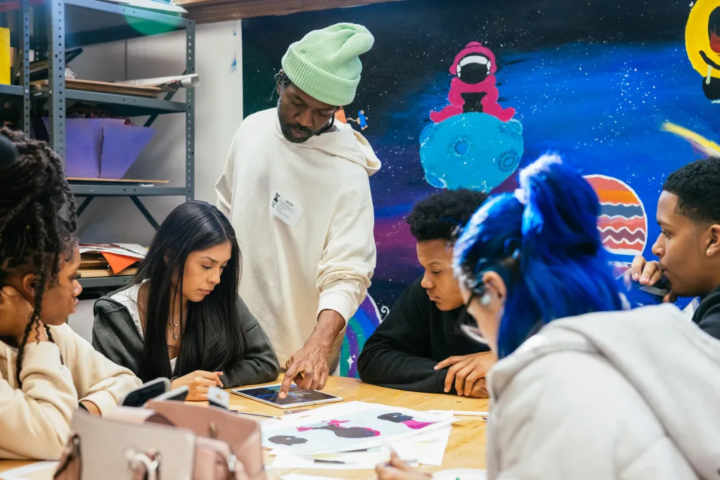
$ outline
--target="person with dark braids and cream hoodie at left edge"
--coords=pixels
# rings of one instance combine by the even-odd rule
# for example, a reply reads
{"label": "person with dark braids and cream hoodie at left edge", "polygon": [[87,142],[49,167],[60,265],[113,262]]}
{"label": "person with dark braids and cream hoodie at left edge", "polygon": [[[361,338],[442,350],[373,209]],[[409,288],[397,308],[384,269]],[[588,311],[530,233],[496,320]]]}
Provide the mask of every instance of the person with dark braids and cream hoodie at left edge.
{"label": "person with dark braids and cream hoodie at left edge", "polygon": [[55,459],[78,402],[105,413],[142,382],[66,325],[82,287],[60,158],[20,132],[0,134],[0,458]]}

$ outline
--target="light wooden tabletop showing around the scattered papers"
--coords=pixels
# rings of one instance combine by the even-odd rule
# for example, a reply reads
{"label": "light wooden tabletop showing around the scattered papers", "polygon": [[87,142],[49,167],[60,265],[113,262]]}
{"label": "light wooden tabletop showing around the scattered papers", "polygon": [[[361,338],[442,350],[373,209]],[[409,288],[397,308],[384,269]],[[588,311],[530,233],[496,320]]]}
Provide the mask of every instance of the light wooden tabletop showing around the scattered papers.
{"label": "light wooden tabletop showing around the scattered papers", "polygon": [[[282,376],[278,381],[282,380]],[[271,382],[271,384],[278,383]],[[420,394],[413,391],[384,389],[364,384],[357,379],[332,376],[328,379],[325,391],[336,394],[346,400],[359,400],[405,407],[415,410],[487,410],[487,399],[468,399],[454,395]],[[318,407],[322,407],[319,405]],[[314,408],[314,407],[310,407]],[[230,394],[230,409],[241,412],[282,415],[282,410],[250,399]],[[269,465],[272,457],[265,453],[265,463]],[[0,472],[24,466],[28,461],[0,461]],[[453,424],[450,440],[445,451],[443,465],[421,466],[421,471],[433,472],[449,468],[485,468],[485,422],[482,420],[461,420]],[[340,479],[374,479],[369,470],[309,470],[309,469],[269,469],[270,479],[279,479],[289,473],[330,476]],[[1,475],[0,475],[1,477]],[[51,478],[48,476],[48,479]]]}

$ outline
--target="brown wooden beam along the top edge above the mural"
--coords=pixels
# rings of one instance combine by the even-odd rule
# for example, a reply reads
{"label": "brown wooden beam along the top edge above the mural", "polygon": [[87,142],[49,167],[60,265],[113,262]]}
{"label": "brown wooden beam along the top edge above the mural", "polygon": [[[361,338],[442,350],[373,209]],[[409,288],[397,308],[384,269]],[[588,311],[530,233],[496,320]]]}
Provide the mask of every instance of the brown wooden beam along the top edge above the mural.
{"label": "brown wooden beam along the top edge above the mural", "polygon": [[198,23],[287,15],[404,0],[176,0]]}

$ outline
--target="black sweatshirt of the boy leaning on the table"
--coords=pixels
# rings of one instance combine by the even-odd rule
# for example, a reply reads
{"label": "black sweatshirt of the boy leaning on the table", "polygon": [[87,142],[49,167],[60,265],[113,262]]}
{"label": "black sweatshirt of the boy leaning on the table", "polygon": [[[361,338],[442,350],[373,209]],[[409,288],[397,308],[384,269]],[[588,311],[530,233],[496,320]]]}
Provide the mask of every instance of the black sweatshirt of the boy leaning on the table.
{"label": "black sweatshirt of the boy leaning on the table", "polygon": [[[458,325],[465,307],[442,312],[418,279],[366,341],[358,358],[362,381],[391,389],[444,393],[448,368],[433,370],[446,358],[486,352],[487,345],[468,340]],[[455,386],[449,392],[456,394]]]}

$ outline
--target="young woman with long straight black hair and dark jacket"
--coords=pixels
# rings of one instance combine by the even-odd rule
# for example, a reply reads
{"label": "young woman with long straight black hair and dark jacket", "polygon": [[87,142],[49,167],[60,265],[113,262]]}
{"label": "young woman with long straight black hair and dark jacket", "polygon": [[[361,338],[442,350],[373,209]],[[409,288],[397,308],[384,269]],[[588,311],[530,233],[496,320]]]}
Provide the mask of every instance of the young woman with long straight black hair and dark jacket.
{"label": "young woman with long straight black hair and dark jacket", "polygon": [[95,302],[93,346],[143,381],[187,385],[189,400],[207,399],[211,386],[276,379],[270,340],[238,296],[241,264],[225,215],[202,201],[181,204],[130,286]]}

